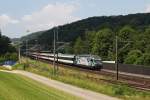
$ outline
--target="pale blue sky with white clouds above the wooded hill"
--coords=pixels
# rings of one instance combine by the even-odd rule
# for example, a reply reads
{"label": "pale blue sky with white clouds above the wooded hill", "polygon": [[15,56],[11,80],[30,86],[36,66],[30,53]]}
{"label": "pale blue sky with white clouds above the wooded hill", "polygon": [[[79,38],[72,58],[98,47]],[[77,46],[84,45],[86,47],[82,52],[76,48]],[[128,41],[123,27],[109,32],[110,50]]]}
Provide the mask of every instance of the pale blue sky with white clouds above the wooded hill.
{"label": "pale blue sky with white clouds above the wooded hill", "polygon": [[150,12],[150,0],[0,0],[0,29],[18,38],[93,16]]}

